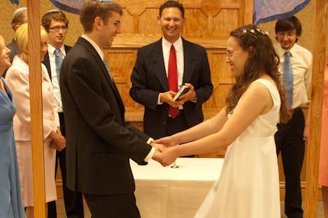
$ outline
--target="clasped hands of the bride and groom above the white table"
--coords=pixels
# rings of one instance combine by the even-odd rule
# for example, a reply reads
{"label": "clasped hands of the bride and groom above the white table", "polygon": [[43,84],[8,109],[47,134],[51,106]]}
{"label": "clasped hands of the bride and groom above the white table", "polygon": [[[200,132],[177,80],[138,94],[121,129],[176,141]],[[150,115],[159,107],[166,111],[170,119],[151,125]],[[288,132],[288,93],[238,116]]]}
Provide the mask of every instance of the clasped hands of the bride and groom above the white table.
{"label": "clasped hands of the bride and groom above the white table", "polygon": [[161,163],[162,166],[169,166],[178,158],[178,154],[173,149],[173,146],[178,145],[178,143],[171,136],[152,140],[150,145],[156,149],[152,159]]}

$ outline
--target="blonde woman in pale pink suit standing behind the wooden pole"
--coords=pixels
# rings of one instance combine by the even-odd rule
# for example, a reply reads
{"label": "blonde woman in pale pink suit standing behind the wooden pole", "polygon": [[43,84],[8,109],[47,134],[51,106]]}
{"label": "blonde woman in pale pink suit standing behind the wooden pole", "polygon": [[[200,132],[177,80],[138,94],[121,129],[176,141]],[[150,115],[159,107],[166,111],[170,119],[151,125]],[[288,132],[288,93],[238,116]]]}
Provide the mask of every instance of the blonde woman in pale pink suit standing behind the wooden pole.
{"label": "blonde woman in pale pink suit standing behind the wooden pole", "polygon": [[[6,80],[13,92],[17,112],[13,118],[13,129],[17,148],[20,187],[26,216],[33,213],[33,180],[31,159],[31,113],[29,102],[29,50],[27,24],[22,24],[15,33],[20,55],[15,56],[13,64],[7,71]],[[41,61],[47,51],[47,33],[41,29]],[[59,131],[59,118],[55,108],[52,84],[43,64],[42,66],[42,100],[43,100],[43,145],[45,166],[45,202],[57,199],[55,185],[56,149],[65,147],[65,139]]]}

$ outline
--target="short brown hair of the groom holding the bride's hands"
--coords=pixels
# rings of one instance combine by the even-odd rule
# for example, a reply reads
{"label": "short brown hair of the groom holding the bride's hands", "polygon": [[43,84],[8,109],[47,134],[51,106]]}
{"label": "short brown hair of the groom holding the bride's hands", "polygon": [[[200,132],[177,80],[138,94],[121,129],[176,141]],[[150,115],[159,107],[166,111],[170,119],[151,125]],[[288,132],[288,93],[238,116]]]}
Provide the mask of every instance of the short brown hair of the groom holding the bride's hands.
{"label": "short brown hair of the groom holding the bride's hands", "polygon": [[107,24],[108,17],[115,12],[123,15],[123,10],[119,3],[89,0],[83,3],[80,10],[80,23],[86,33],[92,32],[94,18],[100,17]]}

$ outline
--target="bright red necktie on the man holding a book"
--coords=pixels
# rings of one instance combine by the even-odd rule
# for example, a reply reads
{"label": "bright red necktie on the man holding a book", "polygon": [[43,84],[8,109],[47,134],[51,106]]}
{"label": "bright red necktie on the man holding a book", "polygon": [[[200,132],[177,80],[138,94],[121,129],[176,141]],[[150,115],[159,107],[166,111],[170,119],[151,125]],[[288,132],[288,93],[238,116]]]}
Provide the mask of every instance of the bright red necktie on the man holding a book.
{"label": "bright red necktie on the man holding a book", "polygon": [[[178,68],[176,66],[176,49],[171,45],[169,56],[169,72],[167,73],[169,81],[169,89],[173,92],[178,92]],[[169,115],[174,119],[179,113],[179,108],[169,107]]]}

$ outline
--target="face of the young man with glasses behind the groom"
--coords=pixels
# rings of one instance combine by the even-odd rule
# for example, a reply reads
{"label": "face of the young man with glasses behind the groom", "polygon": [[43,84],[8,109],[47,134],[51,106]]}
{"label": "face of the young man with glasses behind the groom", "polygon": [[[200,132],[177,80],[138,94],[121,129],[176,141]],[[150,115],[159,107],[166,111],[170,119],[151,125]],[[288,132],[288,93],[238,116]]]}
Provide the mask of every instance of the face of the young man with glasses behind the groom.
{"label": "face of the young man with glasses behind the groom", "polygon": [[52,19],[48,33],[48,43],[55,48],[61,47],[64,44],[66,33],[67,27],[65,22]]}

